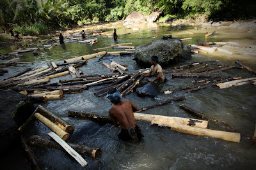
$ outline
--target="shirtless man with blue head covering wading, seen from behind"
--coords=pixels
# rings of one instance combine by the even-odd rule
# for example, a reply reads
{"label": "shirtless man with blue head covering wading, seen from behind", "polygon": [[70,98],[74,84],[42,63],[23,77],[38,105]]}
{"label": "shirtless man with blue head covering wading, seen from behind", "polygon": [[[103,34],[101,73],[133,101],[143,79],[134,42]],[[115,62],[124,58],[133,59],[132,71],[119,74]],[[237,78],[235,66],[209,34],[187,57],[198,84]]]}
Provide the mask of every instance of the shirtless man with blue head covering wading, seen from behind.
{"label": "shirtless man with blue head covering wading, seen from behind", "polygon": [[132,141],[138,142],[139,139],[144,137],[133,115],[133,111],[139,110],[138,106],[128,99],[121,101],[120,93],[115,88],[108,91],[107,97],[114,104],[109,110],[109,116],[115,127],[119,125],[121,127],[118,138],[124,141],[132,139]]}

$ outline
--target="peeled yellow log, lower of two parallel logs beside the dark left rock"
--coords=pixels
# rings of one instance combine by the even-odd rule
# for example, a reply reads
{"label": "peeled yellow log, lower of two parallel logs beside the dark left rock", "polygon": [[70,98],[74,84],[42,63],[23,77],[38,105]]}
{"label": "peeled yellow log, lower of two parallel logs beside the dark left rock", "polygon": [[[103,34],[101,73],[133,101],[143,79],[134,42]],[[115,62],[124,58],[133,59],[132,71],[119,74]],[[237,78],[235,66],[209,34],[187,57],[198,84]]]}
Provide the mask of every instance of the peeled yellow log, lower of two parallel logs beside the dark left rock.
{"label": "peeled yellow log, lower of two parallel logs beside the dark left rock", "polygon": [[63,139],[63,140],[67,140],[68,139],[69,134],[67,132],[63,131],[63,129],[61,129],[58,125],[52,123],[51,120],[49,120],[48,118],[45,118],[40,113],[35,113],[34,116],[38,120],[40,120],[40,122],[42,122],[47,127],[49,127],[49,129],[51,129],[52,131],[56,132],[56,134],[58,134],[58,136],[60,136],[61,139]]}

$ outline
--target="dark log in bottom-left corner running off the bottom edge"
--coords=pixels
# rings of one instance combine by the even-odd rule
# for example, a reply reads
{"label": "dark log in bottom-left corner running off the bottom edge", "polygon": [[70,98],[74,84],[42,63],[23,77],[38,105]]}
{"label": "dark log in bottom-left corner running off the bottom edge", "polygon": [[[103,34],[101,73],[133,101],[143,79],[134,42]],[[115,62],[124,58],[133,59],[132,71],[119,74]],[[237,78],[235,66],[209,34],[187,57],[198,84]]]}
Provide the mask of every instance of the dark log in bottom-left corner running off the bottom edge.
{"label": "dark log in bottom-left corner running off the bottom edge", "polygon": [[28,160],[32,169],[40,170],[41,168],[38,164],[38,161],[36,160],[35,153],[33,152],[33,150],[31,150],[31,148],[28,145],[28,142],[26,141],[23,135],[20,135],[20,140],[21,140],[22,148],[24,148],[24,151],[26,152],[26,155],[28,157]]}

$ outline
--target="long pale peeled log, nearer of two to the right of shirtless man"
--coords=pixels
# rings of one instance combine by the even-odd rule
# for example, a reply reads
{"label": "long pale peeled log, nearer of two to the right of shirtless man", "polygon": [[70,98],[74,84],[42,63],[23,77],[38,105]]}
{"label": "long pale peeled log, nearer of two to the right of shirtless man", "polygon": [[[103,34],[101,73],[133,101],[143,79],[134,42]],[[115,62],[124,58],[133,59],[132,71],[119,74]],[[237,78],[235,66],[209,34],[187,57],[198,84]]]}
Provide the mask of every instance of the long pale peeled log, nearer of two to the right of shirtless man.
{"label": "long pale peeled log, nearer of two to the right of shirtless man", "polygon": [[171,122],[161,122],[154,118],[151,124],[158,124],[161,126],[171,127],[172,131],[183,132],[186,134],[194,134],[199,136],[209,136],[212,138],[223,139],[225,141],[240,142],[240,134],[234,132],[223,132],[223,131],[214,131],[210,129],[202,129],[198,127],[190,127],[185,125],[173,124]]}

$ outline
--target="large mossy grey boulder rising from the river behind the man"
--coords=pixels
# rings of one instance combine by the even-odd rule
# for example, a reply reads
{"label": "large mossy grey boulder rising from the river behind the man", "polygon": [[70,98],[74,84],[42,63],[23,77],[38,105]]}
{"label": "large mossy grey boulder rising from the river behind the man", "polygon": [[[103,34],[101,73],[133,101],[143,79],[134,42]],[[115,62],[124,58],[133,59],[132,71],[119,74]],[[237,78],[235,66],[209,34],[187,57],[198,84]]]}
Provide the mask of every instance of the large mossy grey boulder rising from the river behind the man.
{"label": "large mossy grey boulder rising from the river behind the man", "polygon": [[[163,39],[164,38],[164,39]],[[134,59],[143,67],[150,67],[150,57],[157,55],[159,64],[164,67],[169,64],[191,59],[191,49],[179,38],[164,36],[146,45],[139,45],[134,52]]]}

